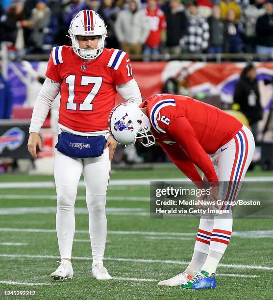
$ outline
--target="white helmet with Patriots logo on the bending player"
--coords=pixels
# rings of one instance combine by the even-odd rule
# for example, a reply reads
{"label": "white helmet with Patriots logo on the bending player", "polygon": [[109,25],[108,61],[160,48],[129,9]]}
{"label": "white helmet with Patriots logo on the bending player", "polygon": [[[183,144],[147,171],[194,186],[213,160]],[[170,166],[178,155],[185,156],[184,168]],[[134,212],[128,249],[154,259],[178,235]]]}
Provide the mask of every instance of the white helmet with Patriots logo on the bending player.
{"label": "white helmet with Patriots logo on the bending player", "polygon": [[148,117],[133,102],[122,103],[112,109],[108,129],[112,137],[125,147],[133,147],[136,139],[143,139],[141,144],[145,147],[155,144]]}

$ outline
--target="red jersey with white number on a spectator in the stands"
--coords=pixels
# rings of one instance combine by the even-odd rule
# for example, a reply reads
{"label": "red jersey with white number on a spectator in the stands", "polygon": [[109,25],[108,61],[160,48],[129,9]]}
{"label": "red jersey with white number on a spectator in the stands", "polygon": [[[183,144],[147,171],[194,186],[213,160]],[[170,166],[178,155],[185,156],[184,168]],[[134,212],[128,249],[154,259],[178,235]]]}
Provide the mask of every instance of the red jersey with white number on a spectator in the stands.
{"label": "red jersey with white number on a spectator in the stands", "polygon": [[146,7],[146,15],[149,18],[150,33],[146,41],[146,45],[149,47],[159,47],[161,42],[160,32],[166,29],[166,18],[164,12],[157,7],[154,11],[150,11],[149,7]]}

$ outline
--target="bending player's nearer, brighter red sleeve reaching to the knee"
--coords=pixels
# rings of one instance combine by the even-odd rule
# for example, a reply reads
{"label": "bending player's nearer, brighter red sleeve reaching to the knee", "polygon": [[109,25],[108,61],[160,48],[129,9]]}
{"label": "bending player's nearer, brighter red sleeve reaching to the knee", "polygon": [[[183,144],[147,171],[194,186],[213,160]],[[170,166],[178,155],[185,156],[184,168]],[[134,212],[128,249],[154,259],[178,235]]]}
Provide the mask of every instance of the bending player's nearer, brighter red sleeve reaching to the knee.
{"label": "bending player's nearer, brighter red sleeve reaching to the knee", "polygon": [[[179,130],[177,130],[179,128]],[[199,144],[193,127],[185,117],[179,117],[166,128],[174,140],[185,150],[189,159],[206,175],[211,186],[218,182],[213,164]]]}

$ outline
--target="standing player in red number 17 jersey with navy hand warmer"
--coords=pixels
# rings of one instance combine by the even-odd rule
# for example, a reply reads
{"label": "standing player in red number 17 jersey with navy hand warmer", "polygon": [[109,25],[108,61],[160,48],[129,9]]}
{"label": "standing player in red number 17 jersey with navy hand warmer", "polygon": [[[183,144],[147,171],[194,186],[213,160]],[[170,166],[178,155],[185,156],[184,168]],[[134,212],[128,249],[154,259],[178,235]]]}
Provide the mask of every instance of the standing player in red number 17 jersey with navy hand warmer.
{"label": "standing player in red number 17 jersey with navy hand warmer", "polygon": [[72,244],[75,231],[74,202],[83,172],[89,211],[89,233],[93,256],[92,273],[111,279],[103,266],[107,234],[106,190],[110,161],[116,141],[107,127],[117,92],[125,101],[141,103],[128,54],[104,48],[107,29],[95,11],[82,10],[72,20],[72,47],[52,48],[46,80],[36,100],[29,128],[28,150],[37,157],[42,150],[39,131],[50,106],[61,93],[59,135],[54,156],[57,193],[56,230],[61,264],[54,279],[72,278]]}

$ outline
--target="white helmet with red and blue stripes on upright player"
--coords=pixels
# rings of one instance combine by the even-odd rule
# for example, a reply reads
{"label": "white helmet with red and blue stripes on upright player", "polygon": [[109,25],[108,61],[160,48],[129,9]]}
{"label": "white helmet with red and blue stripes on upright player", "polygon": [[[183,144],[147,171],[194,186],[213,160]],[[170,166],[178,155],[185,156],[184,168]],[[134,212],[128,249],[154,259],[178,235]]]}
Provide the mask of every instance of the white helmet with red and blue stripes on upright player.
{"label": "white helmet with red and blue stripes on upright player", "polygon": [[[103,19],[94,10],[81,10],[71,21],[68,33],[72,40],[72,48],[74,52],[82,59],[95,59],[103,51],[104,41],[107,34],[107,29]],[[77,36],[98,35],[98,48],[94,50],[79,48]]]}

